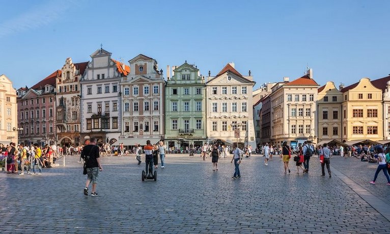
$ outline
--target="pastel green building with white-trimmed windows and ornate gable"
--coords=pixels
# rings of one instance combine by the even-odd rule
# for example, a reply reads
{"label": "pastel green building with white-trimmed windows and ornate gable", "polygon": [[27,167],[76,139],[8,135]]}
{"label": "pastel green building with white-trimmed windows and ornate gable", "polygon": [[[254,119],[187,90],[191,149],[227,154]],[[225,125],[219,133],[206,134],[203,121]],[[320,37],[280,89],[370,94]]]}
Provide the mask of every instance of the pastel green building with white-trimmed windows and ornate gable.
{"label": "pastel green building with white-trimmed windows and ornate gable", "polygon": [[169,147],[206,142],[206,84],[199,69],[185,62],[168,77],[165,88],[165,143]]}

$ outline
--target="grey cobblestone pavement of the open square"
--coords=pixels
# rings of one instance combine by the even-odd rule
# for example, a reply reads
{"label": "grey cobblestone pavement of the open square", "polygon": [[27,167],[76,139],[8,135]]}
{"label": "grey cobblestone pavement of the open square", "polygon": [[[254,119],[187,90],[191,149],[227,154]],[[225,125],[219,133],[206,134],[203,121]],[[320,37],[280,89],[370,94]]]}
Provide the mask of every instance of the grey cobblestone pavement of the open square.
{"label": "grey cobblestone pavement of the open square", "polygon": [[[243,160],[241,179],[220,159],[168,155],[158,179],[141,181],[133,156],[104,157],[99,196],[82,193],[86,176],[78,158],[42,175],[0,173],[1,233],[385,233],[390,222],[337,176],[320,177],[317,158],[309,174],[284,173],[280,158]],[[335,158],[331,166],[378,195],[390,194],[375,164]],[[144,161],[144,160],[143,160]],[[371,168],[373,167],[373,168]],[[358,172],[357,172],[358,171]],[[367,178],[366,178],[367,177]],[[91,189],[90,189],[91,190]],[[383,198],[388,202],[388,199]]]}

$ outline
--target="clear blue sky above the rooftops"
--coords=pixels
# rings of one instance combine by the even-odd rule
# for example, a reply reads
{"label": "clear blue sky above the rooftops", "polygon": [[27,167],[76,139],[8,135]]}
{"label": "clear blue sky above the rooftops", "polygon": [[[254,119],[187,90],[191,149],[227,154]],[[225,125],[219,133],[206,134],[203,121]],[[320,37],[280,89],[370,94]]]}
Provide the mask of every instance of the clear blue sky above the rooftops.
{"label": "clear blue sky above the rooftops", "polygon": [[258,87],[300,77],[346,85],[390,73],[390,1],[6,1],[0,0],[0,74],[31,87],[91,59],[143,53],[212,75],[234,62]]}

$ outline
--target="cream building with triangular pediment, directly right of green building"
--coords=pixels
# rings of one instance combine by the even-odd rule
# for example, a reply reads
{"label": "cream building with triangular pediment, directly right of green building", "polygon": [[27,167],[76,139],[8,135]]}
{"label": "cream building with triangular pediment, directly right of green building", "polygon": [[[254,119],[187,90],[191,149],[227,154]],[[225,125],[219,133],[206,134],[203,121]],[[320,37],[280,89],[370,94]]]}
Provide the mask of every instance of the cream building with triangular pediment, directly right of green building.
{"label": "cream building with triangular pediment, directly right of green building", "polygon": [[[253,77],[241,75],[230,63],[206,83],[206,133],[209,142],[238,141],[256,149],[253,123]],[[237,127],[238,126],[238,127]],[[239,138],[234,130],[239,129]]]}

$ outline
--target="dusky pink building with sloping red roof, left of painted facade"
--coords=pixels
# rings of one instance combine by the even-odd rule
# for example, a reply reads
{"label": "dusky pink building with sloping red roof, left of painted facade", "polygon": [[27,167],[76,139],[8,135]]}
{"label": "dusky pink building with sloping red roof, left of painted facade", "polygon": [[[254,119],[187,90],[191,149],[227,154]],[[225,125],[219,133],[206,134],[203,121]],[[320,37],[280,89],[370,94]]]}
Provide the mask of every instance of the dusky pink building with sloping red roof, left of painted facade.
{"label": "dusky pink building with sloping red roof, left of painted facade", "polygon": [[18,127],[23,128],[19,140],[24,144],[55,144],[55,79],[61,70],[33,85],[17,91]]}

